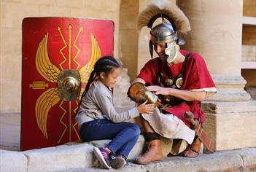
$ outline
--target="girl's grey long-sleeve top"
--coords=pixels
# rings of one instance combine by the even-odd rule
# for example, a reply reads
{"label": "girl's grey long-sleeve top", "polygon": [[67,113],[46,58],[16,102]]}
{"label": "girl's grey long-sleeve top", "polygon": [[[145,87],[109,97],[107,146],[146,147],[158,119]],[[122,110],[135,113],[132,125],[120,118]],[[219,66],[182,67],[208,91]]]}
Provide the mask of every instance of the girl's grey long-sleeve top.
{"label": "girl's grey long-sleeve top", "polygon": [[113,106],[113,93],[102,82],[95,81],[82,98],[82,103],[77,113],[76,120],[80,127],[84,122],[94,119],[108,119],[112,122],[123,122],[133,117],[138,117],[136,107],[126,112],[117,112]]}

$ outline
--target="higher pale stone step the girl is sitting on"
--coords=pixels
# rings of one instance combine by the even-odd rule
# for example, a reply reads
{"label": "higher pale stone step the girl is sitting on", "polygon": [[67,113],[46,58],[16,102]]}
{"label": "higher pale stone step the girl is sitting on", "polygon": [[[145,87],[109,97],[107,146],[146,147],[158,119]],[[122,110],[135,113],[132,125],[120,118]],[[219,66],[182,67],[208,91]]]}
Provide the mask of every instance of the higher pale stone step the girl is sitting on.
{"label": "higher pale stone step the girl is sitting on", "polygon": [[[31,149],[23,152],[0,149],[0,171],[60,171],[69,168],[92,168],[96,157],[93,155],[93,146],[104,146],[110,140],[73,141],[61,146],[42,149]],[[144,145],[141,135],[128,156],[135,160]]]}

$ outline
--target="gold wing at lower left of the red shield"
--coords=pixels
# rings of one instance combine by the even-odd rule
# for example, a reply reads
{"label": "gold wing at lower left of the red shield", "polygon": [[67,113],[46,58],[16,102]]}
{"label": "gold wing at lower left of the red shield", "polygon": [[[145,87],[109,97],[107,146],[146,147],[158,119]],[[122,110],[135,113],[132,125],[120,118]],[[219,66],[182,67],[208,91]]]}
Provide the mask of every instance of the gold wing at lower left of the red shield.
{"label": "gold wing at lower left of the red shield", "polygon": [[47,117],[49,110],[60,101],[58,96],[58,88],[50,88],[46,90],[36,101],[36,122],[39,129],[42,131],[44,136],[47,136]]}

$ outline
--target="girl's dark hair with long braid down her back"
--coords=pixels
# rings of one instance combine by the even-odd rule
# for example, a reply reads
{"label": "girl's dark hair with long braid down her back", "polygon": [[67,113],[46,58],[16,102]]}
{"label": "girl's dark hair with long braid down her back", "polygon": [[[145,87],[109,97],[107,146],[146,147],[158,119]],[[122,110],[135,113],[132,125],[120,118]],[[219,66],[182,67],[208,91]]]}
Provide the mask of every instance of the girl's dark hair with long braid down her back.
{"label": "girl's dark hair with long braid down her back", "polygon": [[[94,65],[93,71],[90,73],[90,77],[88,79],[88,83],[85,87],[84,92],[82,93],[82,97],[79,103],[79,107],[81,106],[82,98],[85,97],[86,93],[88,92],[90,85],[92,82],[96,79],[96,77],[99,77],[101,72],[104,72],[104,74],[107,76],[110,74],[114,69],[120,68],[120,64],[117,62],[117,60],[111,56],[104,56],[100,59],[98,59]],[[79,108],[77,109],[77,112],[79,111]],[[77,115],[77,113],[76,113]]]}

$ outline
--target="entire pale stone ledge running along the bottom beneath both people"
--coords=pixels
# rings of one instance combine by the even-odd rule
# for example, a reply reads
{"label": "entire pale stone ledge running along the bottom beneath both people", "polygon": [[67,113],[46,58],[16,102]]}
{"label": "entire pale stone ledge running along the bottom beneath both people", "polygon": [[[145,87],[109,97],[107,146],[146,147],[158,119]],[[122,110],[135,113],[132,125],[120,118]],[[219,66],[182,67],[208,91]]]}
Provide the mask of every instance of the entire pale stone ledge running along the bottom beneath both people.
{"label": "entire pale stone ledge running along the bottom beneath both people", "polygon": [[[108,141],[71,142],[23,152],[0,150],[0,171],[105,171],[95,167],[93,146],[101,146]],[[166,157],[161,162],[148,165],[131,163],[141,153],[143,144],[141,136],[128,157],[130,162],[120,171],[256,171],[255,147],[200,154],[196,158]]]}

